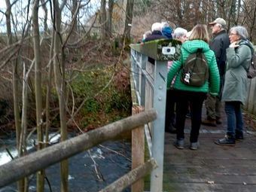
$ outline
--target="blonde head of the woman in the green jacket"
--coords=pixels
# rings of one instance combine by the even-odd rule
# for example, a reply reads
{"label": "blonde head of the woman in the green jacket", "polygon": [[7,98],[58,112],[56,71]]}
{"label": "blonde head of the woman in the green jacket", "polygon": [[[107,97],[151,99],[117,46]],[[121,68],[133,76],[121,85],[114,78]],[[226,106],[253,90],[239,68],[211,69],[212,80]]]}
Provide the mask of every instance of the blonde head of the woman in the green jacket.
{"label": "blonde head of the woman in the green jacket", "polygon": [[197,24],[197,26],[194,26],[194,28],[191,31],[191,34],[188,38],[188,40],[203,40],[206,41],[206,43],[209,43],[209,33],[207,31],[206,25],[203,24]]}

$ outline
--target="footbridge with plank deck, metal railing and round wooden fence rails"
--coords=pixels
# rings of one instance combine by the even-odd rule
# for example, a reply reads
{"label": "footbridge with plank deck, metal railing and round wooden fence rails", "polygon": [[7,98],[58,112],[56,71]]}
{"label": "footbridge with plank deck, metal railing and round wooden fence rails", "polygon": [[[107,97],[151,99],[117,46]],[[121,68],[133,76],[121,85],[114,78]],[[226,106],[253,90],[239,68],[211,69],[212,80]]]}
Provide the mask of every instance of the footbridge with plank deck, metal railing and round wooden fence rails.
{"label": "footbridge with plank deck, metal railing and round wooden fence rails", "polygon": [[[173,40],[132,44],[133,116],[0,166],[0,188],[133,130],[132,170],[100,191],[122,191],[130,185],[133,192],[256,191],[256,135],[249,114],[245,140],[235,147],[214,144],[224,136],[226,122],[217,127],[201,126],[197,151],[188,149],[190,119],[184,150],[172,145],[175,135],[164,133],[167,61],[178,59],[180,48],[180,42]],[[251,112],[255,111],[255,102],[249,103],[254,101],[255,81],[248,82],[251,88],[245,107],[252,108]],[[145,177],[148,174],[149,179]]]}

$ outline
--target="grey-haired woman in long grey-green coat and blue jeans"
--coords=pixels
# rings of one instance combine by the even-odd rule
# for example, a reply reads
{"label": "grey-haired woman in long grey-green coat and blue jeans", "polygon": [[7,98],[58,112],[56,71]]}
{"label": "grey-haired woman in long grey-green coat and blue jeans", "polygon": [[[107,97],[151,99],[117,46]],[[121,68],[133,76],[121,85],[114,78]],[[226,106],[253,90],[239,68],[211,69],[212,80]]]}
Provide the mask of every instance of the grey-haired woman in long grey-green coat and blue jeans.
{"label": "grey-haired woman in long grey-green coat and blue jeans", "polygon": [[247,70],[251,63],[253,47],[248,41],[248,32],[243,26],[230,29],[230,47],[227,48],[227,66],[224,89],[221,100],[225,102],[227,115],[227,133],[218,139],[217,145],[235,145],[236,140],[243,139],[243,120],[241,104],[247,98]]}

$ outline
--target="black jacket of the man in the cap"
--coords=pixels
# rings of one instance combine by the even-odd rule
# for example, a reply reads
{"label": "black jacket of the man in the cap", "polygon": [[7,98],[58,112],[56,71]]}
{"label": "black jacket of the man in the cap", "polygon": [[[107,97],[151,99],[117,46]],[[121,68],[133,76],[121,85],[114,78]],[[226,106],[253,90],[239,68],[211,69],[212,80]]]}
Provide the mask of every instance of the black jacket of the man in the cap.
{"label": "black jacket of the man in the cap", "polygon": [[227,32],[225,30],[218,32],[218,34],[212,38],[209,45],[211,50],[215,52],[218,70],[220,75],[223,76],[226,68],[226,49],[230,45],[230,39],[228,38]]}

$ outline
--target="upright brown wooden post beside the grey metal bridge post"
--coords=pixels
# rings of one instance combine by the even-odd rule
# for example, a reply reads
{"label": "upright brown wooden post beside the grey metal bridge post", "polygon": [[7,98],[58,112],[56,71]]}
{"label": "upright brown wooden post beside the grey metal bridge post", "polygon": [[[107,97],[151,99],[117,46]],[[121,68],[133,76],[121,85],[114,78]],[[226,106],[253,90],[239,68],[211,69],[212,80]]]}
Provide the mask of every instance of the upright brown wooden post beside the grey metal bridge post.
{"label": "upright brown wooden post beside the grey metal bridge post", "polygon": [[[133,114],[139,114],[144,111],[142,106],[133,106]],[[132,169],[143,165],[145,162],[145,136],[144,126],[136,127],[132,130]],[[141,192],[144,190],[144,179],[141,178],[132,185],[132,192]]]}

